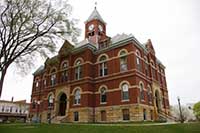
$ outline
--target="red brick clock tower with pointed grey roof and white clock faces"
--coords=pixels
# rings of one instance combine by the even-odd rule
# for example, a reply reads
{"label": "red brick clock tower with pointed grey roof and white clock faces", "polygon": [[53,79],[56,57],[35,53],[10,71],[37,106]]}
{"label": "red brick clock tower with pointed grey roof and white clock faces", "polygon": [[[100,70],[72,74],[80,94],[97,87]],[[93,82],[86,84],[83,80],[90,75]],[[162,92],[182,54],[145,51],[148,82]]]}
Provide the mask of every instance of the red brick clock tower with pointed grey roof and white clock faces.
{"label": "red brick clock tower with pointed grey roof and white clock faces", "polygon": [[100,48],[101,43],[107,41],[108,38],[106,36],[106,23],[95,7],[92,14],[85,21],[85,39]]}

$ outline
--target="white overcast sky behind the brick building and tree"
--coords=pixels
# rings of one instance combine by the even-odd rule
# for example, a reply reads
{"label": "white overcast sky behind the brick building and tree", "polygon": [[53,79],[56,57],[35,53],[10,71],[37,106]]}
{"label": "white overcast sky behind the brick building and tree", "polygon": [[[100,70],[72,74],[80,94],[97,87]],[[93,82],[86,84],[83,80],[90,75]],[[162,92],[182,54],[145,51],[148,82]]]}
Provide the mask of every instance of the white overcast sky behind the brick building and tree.
{"label": "white overcast sky behind the brick building and tree", "polygon": [[[200,1],[199,0],[96,0],[97,10],[107,23],[107,35],[132,33],[141,43],[151,39],[156,56],[166,66],[171,104],[200,101]],[[70,0],[72,17],[84,21],[95,0]],[[62,44],[59,44],[60,47]],[[43,62],[36,62],[36,67]],[[33,68],[19,76],[12,66],[6,75],[1,99],[30,101]]]}

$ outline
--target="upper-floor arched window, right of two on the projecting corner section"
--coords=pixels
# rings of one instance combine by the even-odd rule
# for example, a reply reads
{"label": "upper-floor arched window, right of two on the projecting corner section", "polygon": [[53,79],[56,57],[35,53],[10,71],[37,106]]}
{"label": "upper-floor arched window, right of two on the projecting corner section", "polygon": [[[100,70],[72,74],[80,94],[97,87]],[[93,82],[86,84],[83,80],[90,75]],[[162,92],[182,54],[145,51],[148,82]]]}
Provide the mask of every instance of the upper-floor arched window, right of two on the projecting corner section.
{"label": "upper-floor arched window, right of two on the projecting corner section", "polygon": [[126,51],[120,52],[120,71],[126,71],[127,70],[127,53]]}

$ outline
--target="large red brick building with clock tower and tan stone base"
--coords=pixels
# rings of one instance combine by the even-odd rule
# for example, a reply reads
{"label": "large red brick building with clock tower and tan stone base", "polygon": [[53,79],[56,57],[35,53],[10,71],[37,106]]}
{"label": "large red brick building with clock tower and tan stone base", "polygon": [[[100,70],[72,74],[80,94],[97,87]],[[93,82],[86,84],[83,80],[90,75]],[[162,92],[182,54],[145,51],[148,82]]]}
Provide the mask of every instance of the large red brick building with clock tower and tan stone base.
{"label": "large red brick building with clock tower and tan stone base", "polygon": [[95,8],[85,39],[65,41],[33,74],[30,114],[42,122],[159,120],[169,115],[165,66],[149,39],[106,35]]}

